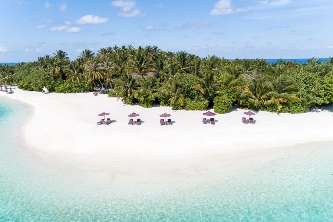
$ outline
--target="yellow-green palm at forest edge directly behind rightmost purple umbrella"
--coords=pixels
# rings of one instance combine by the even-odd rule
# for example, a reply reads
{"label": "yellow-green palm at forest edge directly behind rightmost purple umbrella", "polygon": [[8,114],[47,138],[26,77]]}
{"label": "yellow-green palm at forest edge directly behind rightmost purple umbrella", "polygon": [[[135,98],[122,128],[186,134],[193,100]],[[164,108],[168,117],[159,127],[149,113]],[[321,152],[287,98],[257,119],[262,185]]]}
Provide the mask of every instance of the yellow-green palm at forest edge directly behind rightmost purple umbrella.
{"label": "yellow-green palm at forest edge directly behind rightmost purple umbrella", "polygon": [[267,82],[265,76],[254,75],[253,79],[244,86],[240,97],[247,98],[248,102],[253,104],[258,110],[259,106],[264,103],[263,96],[268,92],[268,85],[269,82]]}

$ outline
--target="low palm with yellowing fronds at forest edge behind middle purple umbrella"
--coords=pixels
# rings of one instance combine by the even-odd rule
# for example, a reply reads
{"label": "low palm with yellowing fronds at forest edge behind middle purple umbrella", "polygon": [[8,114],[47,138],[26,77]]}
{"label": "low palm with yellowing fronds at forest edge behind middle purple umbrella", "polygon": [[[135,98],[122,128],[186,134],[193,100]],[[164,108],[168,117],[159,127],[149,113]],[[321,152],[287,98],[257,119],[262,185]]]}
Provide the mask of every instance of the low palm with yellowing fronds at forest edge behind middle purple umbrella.
{"label": "low palm with yellowing fronds at forest edge behind middle purple umbrella", "polygon": [[169,89],[163,89],[162,93],[164,93],[166,96],[168,96],[170,99],[169,102],[177,102],[179,101],[180,106],[184,106],[184,100],[185,100],[185,89],[184,85],[181,83],[180,80],[173,79],[168,84]]}

